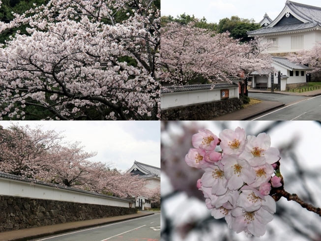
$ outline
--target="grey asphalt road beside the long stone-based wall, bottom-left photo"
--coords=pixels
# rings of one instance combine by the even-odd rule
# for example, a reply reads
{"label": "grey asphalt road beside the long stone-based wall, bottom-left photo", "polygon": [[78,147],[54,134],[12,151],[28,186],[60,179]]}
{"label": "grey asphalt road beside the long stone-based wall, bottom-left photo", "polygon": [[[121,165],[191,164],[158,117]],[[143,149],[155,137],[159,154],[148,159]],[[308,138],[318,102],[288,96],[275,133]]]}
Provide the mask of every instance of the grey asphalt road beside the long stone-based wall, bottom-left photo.
{"label": "grey asphalt road beside the long stone-based wall, bottom-left photo", "polygon": [[32,241],[160,241],[160,213]]}

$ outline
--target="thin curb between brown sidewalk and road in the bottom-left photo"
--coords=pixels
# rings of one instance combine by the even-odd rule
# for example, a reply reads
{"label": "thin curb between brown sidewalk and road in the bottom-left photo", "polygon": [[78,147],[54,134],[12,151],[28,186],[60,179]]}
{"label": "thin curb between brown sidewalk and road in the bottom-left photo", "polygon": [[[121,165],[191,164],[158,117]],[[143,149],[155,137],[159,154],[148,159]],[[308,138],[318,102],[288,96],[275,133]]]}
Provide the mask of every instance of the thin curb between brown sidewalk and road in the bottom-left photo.
{"label": "thin curb between brown sidewalk and road in the bottom-left photo", "polygon": [[[138,216],[138,217],[145,217],[145,216],[149,216],[149,215],[153,215],[153,214],[154,213],[146,213],[146,214]],[[67,229],[63,229],[63,230],[57,230],[57,231],[51,231],[51,232],[37,234],[37,235],[31,235],[29,237],[13,238],[13,239],[9,239],[9,240],[6,240],[6,241],[28,241],[28,240],[32,240],[32,239],[43,238],[43,237],[47,237],[47,236],[51,236],[51,235],[67,233],[67,232],[76,231],[76,230],[80,230],[80,229],[86,229],[86,228],[101,226],[101,225],[110,224],[110,223],[117,223],[119,221],[135,219],[135,218],[138,218],[138,217],[128,217],[128,218],[123,218],[123,219],[120,219],[120,220],[117,220],[117,221],[116,220],[115,221],[105,221],[105,222],[102,222],[102,223],[89,224],[89,225],[85,225],[85,226],[81,226],[81,227],[67,228]],[[41,226],[41,227],[46,227],[46,226]],[[15,231],[18,231],[18,230],[15,230]]]}

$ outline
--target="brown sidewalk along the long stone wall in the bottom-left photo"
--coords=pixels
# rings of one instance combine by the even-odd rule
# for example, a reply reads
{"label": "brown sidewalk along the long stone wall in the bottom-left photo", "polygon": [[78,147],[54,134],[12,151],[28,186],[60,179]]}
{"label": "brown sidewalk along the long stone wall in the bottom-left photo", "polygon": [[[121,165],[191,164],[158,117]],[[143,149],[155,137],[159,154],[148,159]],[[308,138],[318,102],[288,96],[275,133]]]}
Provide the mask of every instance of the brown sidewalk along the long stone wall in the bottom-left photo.
{"label": "brown sidewalk along the long stone wall in the bottom-left photo", "polygon": [[99,219],[91,219],[77,222],[59,223],[55,225],[41,226],[36,228],[26,228],[14,231],[7,231],[0,233],[0,241],[27,241],[32,239],[37,239],[41,237],[46,237],[50,235],[56,235],[61,233],[66,233],[70,231],[75,231],[79,229],[90,228],[94,226],[115,223],[119,221],[124,221],[128,219],[133,219],[137,217],[143,217],[152,215],[154,212],[138,212],[136,214],[129,214],[117,217],[106,217]]}

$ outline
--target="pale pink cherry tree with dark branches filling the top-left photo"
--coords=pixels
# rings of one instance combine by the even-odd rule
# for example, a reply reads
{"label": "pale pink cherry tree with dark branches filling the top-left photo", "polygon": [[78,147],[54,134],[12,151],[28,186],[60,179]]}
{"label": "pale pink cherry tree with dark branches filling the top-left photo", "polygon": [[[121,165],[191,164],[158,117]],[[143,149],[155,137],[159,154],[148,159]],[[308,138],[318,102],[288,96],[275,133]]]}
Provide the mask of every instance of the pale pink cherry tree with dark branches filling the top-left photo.
{"label": "pale pink cherry tree with dark branches filling the top-left photo", "polygon": [[[156,120],[158,0],[50,0],[0,23],[29,24],[0,48],[0,118]],[[122,19],[119,21],[118,19]]]}

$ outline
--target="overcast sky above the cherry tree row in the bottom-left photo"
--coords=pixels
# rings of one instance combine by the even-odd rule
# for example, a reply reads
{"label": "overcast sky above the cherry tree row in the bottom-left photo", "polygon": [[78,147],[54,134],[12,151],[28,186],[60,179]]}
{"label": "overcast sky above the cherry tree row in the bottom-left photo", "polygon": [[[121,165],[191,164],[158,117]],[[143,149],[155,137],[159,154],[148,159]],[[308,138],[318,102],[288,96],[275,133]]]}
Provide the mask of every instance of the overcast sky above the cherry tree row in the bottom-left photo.
{"label": "overcast sky above the cherry tree row in the bottom-left photo", "polygon": [[[97,151],[90,161],[113,161],[120,170],[134,160],[160,167],[160,121],[12,121],[19,125],[43,125],[42,129],[64,131],[65,141],[80,141],[85,150]],[[4,128],[10,121],[0,121]]]}

